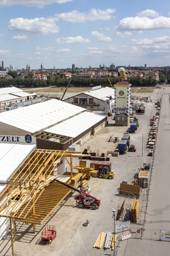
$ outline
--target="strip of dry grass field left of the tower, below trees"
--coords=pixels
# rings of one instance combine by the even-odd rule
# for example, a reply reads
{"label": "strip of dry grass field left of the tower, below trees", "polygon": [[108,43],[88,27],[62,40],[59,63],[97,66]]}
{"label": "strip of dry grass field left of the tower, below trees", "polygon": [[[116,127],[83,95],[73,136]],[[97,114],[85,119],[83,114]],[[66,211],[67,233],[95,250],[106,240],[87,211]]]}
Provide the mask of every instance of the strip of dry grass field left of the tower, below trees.
{"label": "strip of dry grass field left of the tower, below trees", "polygon": [[[24,88],[26,91],[27,88]],[[87,90],[91,90],[91,87],[70,87],[67,89],[67,93],[79,93]],[[36,93],[64,93],[65,87],[54,87],[54,88],[45,88],[45,89],[38,89],[34,90]]]}

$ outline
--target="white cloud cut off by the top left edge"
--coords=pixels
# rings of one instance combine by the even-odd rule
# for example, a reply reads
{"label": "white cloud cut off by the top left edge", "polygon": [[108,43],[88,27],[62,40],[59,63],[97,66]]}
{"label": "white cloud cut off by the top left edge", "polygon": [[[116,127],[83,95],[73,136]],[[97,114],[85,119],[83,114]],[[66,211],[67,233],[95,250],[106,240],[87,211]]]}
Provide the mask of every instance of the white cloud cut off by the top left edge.
{"label": "white cloud cut off by the top left edge", "polygon": [[52,3],[67,3],[73,0],[0,0],[0,6],[12,6],[12,5],[23,5],[23,6],[35,6],[42,8],[45,5]]}

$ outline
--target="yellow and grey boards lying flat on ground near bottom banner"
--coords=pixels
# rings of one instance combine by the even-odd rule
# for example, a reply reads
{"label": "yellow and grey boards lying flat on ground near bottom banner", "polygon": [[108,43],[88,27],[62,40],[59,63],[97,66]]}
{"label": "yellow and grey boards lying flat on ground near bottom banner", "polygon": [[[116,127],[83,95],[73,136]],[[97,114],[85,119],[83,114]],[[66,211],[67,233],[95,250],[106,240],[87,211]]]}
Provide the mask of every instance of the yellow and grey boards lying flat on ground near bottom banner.
{"label": "yellow and grey boards lying flat on ground near bottom banner", "polygon": [[[115,242],[117,239],[117,235],[115,235]],[[111,232],[108,232],[107,234],[104,232],[101,232],[96,240],[96,243],[94,244],[94,249],[101,250],[103,242],[104,246],[103,249],[114,249],[114,235]]]}

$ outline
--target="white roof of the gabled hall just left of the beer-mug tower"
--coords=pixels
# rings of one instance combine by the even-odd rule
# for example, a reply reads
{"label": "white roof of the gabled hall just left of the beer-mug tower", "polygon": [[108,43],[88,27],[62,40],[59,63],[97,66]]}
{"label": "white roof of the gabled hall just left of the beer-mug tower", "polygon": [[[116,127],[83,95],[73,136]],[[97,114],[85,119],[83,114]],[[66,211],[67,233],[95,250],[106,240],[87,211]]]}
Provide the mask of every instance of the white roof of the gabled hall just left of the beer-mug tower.
{"label": "white roof of the gabled hall just left of the beer-mug tower", "polygon": [[112,98],[114,99],[114,90],[110,87],[102,87],[97,90],[91,90],[91,91],[85,92],[85,94],[97,99],[101,99],[103,101],[105,101],[105,97],[109,97],[109,96],[112,96]]}

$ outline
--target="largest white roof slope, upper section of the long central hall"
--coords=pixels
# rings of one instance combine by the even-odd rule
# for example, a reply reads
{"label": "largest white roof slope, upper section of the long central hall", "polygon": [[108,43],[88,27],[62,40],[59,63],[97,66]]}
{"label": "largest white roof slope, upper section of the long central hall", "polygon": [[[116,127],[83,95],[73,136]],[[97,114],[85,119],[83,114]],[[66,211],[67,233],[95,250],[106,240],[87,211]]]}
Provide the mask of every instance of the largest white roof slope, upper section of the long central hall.
{"label": "largest white roof slope, upper section of the long central hall", "polygon": [[50,126],[84,111],[85,108],[51,99],[25,108],[0,113],[0,122],[34,133],[48,129]]}

